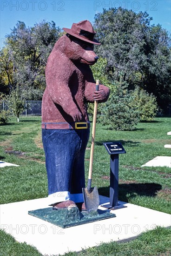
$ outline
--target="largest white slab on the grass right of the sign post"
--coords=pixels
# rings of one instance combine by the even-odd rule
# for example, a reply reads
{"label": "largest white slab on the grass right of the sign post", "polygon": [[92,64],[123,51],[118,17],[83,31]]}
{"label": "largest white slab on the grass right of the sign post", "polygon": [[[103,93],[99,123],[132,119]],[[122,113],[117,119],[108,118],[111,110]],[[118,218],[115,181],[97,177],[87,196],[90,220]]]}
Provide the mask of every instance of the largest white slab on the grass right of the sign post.
{"label": "largest white slab on the grass right of the sign post", "polygon": [[167,166],[171,168],[171,156],[156,156],[149,162],[143,164],[141,167],[143,166]]}

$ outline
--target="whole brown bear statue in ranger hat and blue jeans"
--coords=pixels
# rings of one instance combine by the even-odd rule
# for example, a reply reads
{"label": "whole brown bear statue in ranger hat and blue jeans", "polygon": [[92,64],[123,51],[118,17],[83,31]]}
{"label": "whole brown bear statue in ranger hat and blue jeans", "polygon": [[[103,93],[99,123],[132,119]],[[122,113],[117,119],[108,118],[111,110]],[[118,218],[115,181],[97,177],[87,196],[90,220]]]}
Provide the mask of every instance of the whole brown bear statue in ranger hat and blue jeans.
{"label": "whole brown bear statue in ranger hat and blue jeans", "polygon": [[46,65],[42,101],[42,141],[46,157],[48,202],[55,209],[84,209],[85,148],[90,134],[87,102],[105,102],[109,88],[93,79],[98,60],[96,32],[88,20],[73,23],[55,43]]}

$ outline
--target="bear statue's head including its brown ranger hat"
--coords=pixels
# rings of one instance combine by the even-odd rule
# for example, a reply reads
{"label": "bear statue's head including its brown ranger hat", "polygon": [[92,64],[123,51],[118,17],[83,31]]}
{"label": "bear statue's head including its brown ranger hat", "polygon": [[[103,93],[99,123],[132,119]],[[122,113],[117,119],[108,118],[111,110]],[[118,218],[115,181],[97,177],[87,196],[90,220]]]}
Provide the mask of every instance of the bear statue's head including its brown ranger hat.
{"label": "bear statue's head including its brown ranger hat", "polygon": [[[88,20],[73,23],[71,29],[63,28],[66,31],[63,40],[63,52],[72,61],[93,65],[99,57],[94,53],[94,44],[99,45],[99,41],[94,39],[96,32]],[[60,39],[59,39],[60,40]]]}

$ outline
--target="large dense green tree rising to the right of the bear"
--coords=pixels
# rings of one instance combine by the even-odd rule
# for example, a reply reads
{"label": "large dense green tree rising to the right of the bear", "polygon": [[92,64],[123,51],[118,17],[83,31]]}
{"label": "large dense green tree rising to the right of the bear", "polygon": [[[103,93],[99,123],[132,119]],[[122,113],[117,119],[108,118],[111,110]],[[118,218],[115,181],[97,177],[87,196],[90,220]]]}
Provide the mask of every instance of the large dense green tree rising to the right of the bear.
{"label": "large dense green tree rising to the right of the bear", "polygon": [[107,59],[106,73],[113,83],[122,72],[128,89],[153,93],[164,108],[171,100],[171,40],[160,25],[150,25],[148,13],[123,8],[103,10],[94,29],[101,45],[96,53]]}

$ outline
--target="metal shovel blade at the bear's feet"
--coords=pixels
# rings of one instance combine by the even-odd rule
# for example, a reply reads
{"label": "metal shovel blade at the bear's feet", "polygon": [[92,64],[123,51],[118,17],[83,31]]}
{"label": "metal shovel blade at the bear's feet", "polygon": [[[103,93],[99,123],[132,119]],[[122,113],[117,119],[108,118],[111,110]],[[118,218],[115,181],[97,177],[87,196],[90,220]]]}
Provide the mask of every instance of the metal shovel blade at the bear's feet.
{"label": "metal shovel blade at the bear's feet", "polygon": [[85,202],[85,207],[88,212],[97,211],[99,207],[99,192],[97,187],[91,188],[91,191],[88,191],[87,188],[83,188],[83,197]]}

